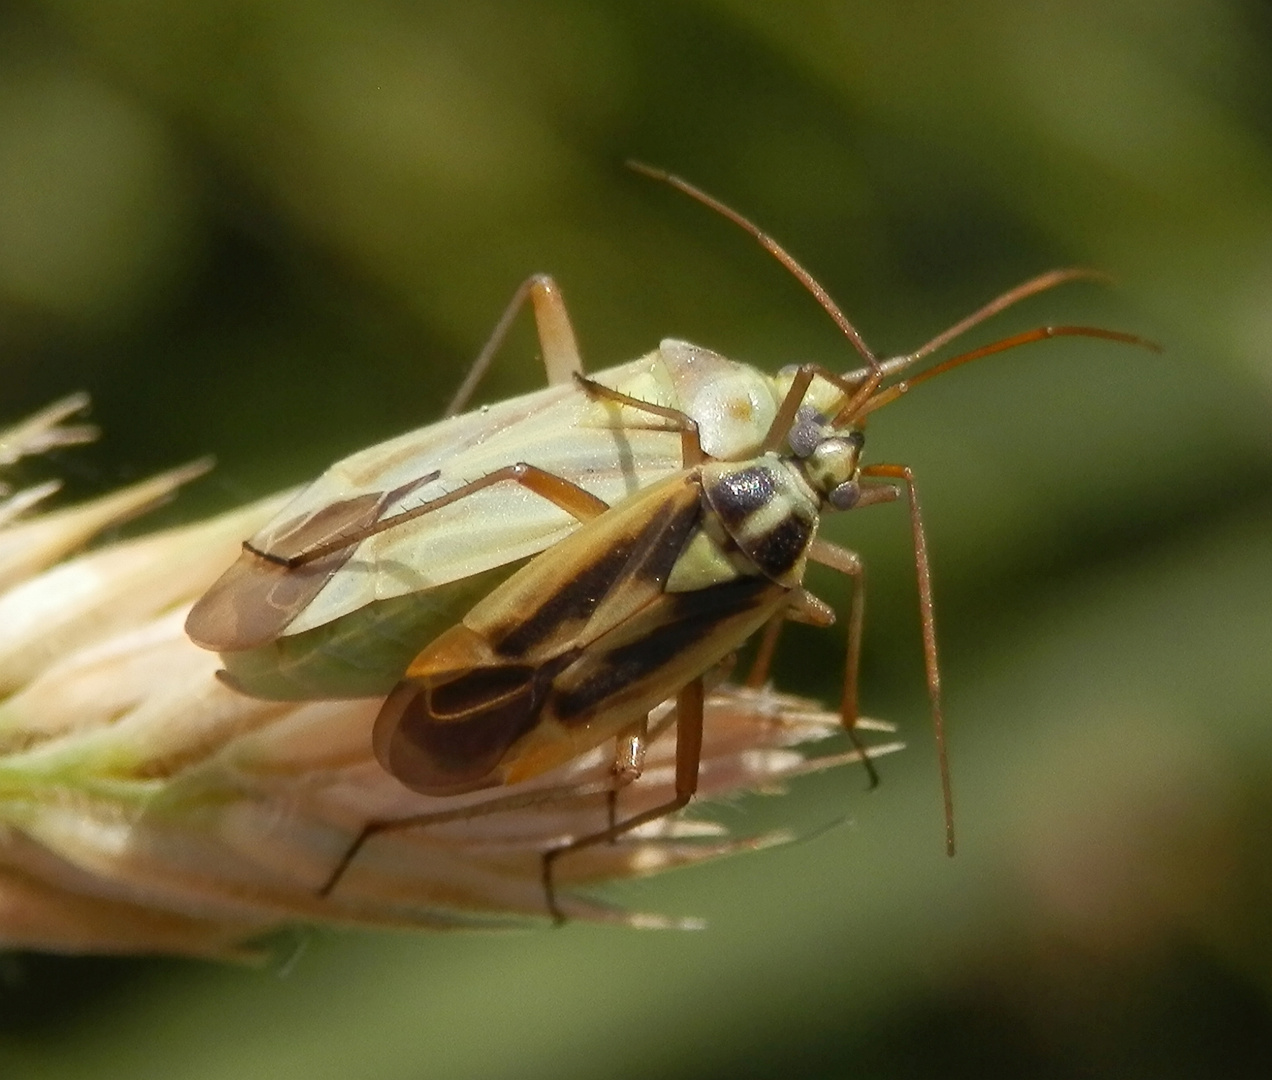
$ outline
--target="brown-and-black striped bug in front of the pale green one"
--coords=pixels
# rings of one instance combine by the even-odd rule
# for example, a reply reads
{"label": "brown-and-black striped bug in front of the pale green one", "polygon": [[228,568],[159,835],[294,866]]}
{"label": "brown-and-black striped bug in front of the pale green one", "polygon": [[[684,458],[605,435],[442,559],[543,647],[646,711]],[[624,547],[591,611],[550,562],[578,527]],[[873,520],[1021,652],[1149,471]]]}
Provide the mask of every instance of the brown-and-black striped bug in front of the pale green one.
{"label": "brown-and-black striped bug in front of the pale green one", "polygon": [[[866,366],[848,375],[815,364],[787,373],[784,396],[756,452],[733,459],[711,454],[695,417],[684,411],[575,375],[580,388],[598,402],[646,412],[677,430],[683,439],[681,468],[613,506],[561,477],[523,469],[518,482],[579,519],[581,527],[425,646],[385,700],[373,731],[378,759],[407,787],[448,796],[515,785],[611,738],[617,740],[617,791],[640,773],[649,714],[675,698],[674,798],[623,820],[617,820],[612,809],[607,827],[544,854],[544,896],[558,921],[562,913],[553,866],[561,856],[617,840],[692,799],[702,742],[703,679],[761,628],[767,627],[762,677],[784,621],[820,626],[833,621],[833,611],[803,588],[810,561],[841,571],[851,583],[841,720],[855,737],[864,567],[855,552],[817,533],[826,511],[902,497],[909,506],[946,843],[953,854],[931,569],[918,496],[907,466],[864,463],[864,421],[918,383],[1016,345],[1058,336],[1147,345],[1132,335],[1094,327],[1039,327],[899,378],[968,326],[1071,272],[1027,282],[917,352],[883,361],[822,286],[775,240],[684,181],[656,176],[716,209],[767,247],[813,291]],[[520,801],[520,796],[509,795],[469,812],[490,813]],[[336,885],[370,837],[444,817],[449,814],[369,823],[323,892]]]}

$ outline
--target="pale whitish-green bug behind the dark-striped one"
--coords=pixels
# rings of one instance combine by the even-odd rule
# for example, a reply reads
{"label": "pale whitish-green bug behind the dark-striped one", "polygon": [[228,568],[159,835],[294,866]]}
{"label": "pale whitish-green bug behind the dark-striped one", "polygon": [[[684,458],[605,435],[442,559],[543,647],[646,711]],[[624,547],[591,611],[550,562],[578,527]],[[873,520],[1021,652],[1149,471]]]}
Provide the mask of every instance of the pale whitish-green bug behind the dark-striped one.
{"label": "pale whitish-green bug behind the dark-striped one", "polygon": [[[454,415],[527,301],[550,385]],[[581,370],[560,289],[532,277],[446,419],[332,466],[244,543],[191,611],[190,637],[220,653],[229,681],[257,697],[387,693],[424,642],[575,527],[513,477],[510,462],[605,502],[679,468],[679,433],[585,393],[574,382]],[[721,458],[754,453],[782,394],[780,380],[674,340],[593,378],[692,416]]]}

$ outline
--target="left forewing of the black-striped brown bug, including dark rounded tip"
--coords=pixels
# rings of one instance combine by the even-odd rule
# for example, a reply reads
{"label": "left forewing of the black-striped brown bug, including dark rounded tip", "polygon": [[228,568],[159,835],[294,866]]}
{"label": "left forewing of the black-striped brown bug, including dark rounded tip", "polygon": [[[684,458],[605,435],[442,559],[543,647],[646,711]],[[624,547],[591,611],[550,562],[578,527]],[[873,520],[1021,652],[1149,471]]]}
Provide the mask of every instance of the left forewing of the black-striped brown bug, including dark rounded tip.
{"label": "left forewing of the black-striped brown bug, including dark rounded tip", "polygon": [[700,516],[696,477],[682,473],[523,567],[411,664],[375,721],[380,762],[444,795],[506,782],[527,754],[547,762],[539,772],[586,749],[577,733],[542,728],[555,681],[656,603]]}

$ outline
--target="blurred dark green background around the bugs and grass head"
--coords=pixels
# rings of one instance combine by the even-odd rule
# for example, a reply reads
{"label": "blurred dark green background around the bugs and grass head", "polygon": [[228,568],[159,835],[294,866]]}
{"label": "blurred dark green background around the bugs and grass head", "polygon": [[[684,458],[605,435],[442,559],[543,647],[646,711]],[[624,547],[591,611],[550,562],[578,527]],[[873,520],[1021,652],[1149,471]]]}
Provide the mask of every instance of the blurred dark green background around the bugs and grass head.
{"label": "blurred dark green background around the bugs and grass head", "polygon": [[[298,938],[267,971],[11,955],[14,1077],[1272,1075],[1272,17],[1037,4],[48,0],[0,9],[0,411],[88,389],[84,495],[215,453],[163,520],[436,415],[515,285],[589,366],[681,336],[847,366],[1052,266],[1048,343],[871,424],[925,496],[962,850],[941,852],[902,510],[865,705],[911,749],[717,810],[805,842],[611,890],[700,934]],[[483,388],[542,380],[523,328]],[[843,595],[829,576],[813,586]],[[841,644],[792,631],[785,688]],[[848,823],[822,826],[847,815]]]}

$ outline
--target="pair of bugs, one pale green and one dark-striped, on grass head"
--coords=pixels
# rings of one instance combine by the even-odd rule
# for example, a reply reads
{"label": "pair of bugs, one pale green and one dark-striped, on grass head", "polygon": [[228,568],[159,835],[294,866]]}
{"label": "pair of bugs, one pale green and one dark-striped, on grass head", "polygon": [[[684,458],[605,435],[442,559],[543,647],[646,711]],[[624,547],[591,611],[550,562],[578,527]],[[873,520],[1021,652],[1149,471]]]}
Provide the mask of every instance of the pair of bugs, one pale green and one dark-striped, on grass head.
{"label": "pair of bugs, one pale green and one dark-striped, on grass head", "polygon": [[[693,796],[703,682],[763,630],[749,679],[762,683],[784,621],[833,622],[833,611],[803,588],[809,561],[851,583],[841,716],[857,742],[864,571],[856,553],[817,533],[824,511],[902,497],[909,506],[953,852],[931,570],[918,497],[908,467],[864,463],[865,420],[926,379],[1016,345],[1060,336],[1147,343],[1095,327],[1047,326],[907,377],[953,338],[1019,300],[1098,275],[1042,275],[917,351],[880,360],[771,237],[684,181],[639,170],[756,238],[814,295],[865,366],[837,374],[803,364],[768,377],[709,350],[664,341],[640,360],[586,377],[560,290],[548,277],[532,277],[446,419],[328,469],[244,543],[239,561],[187,621],[190,636],[221,654],[224,678],[245,693],[387,693],[371,733],[375,756],[425,795],[518,784],[614,739],[608,826],[543,856],[546,903],[557,920],[557,859],[614,841]],[[527,301],[548,388],[458,415]],[[536,557],[511,571],[529,556]],[[449,628],[439,633],[444,626]],[[641,772],[647,717],[672,698],[674,798],[621,818],[617,793]],[[510,794],[464,813],[523,803],[524,796]],[[438,823],[454,813],[368,823],[321,892],[336,887],[377,833]]]}

